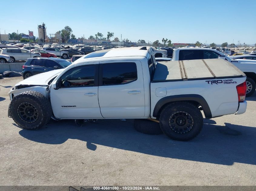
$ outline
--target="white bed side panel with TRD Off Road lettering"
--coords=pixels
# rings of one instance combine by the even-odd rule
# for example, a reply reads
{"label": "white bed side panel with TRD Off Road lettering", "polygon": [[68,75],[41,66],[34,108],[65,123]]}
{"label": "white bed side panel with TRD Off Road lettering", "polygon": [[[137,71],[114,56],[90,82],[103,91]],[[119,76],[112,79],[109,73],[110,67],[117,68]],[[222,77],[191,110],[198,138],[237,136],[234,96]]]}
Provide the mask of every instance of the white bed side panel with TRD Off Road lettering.
{"label": "white bed side panel with TRD Off Road lettering", "polygon": [[[190,81],[165,81],[151,83],[151,118],[156,103],[163,97],[172,95],[197,94],[201,95],[211,110],[212,117],[233,114],[238,110],[238,94],[236,86],[245,81],[246,77],[241,78],[222,78],[218,80],[233,80],[232,84],[211,84],[210,79],[190,80]],[[211,79],[214,80],[214,79]],[[156,88],[166,88],[166,95],[156,96]]]}

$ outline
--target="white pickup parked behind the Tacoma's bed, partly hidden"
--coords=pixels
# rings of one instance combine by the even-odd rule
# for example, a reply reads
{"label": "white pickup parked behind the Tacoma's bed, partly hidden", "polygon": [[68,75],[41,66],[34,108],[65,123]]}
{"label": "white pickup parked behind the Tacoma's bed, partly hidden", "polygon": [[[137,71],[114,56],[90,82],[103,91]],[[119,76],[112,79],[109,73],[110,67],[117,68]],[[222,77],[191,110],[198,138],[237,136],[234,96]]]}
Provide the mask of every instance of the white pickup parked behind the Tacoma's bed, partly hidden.
{"label": "white pickup parked behind the Tacoma's bed, partly hidden", "polygon": [[238,67],[247,76],[246,96],[254,94],[256,89],[256,60],[232,59],[215,49],[207,48],[178,48],[173,51],[172,60],[194,60],[194,59],[225,59]]}

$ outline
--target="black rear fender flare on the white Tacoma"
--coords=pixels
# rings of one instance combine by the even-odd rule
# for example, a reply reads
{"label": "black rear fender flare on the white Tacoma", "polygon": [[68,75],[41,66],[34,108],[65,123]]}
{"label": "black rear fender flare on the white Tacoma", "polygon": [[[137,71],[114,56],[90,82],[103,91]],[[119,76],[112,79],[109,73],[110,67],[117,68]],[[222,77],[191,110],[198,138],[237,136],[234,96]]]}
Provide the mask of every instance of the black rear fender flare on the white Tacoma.
{"label": "black rear fender flare on the white Tacoma", "polygon": [[173,96],[163,97],[162,99],[158,100],[158,102],[156,103],[153,111],[153,117],[156,117],[156,118],[159,117],[159,113],[165,104],[170,102],[176,102],[176,101],[196,101],[202,106],[205,118],[207,119],[212,118],[211,110],[207,101],[204,99],[204,97],[198,94],[182,94],[182,95],[173,95]]}

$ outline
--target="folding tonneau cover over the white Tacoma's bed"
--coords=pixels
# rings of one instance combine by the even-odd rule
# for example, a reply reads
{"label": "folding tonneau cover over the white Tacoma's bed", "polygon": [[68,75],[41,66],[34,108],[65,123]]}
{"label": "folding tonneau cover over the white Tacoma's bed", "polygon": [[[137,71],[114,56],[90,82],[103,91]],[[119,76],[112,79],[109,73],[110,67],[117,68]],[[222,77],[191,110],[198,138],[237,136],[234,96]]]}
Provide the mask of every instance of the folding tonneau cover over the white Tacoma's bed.
{"label": "folding tonneau cover over the white Tacoma's bed", "polygon": [[164,61],[156,64],[153,81],[235,78],[245,74],[223,59]]}

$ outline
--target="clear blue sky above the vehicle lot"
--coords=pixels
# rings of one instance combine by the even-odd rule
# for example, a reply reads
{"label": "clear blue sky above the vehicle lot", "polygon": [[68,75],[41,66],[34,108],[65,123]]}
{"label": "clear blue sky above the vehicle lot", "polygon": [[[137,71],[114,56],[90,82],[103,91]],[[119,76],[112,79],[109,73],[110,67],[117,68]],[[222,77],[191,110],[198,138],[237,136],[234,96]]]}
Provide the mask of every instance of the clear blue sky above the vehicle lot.
{"label": "clear blue sky above the vehicle lot", "polygon": [[[31,30],[36,36],[37,25],[44,22],[48,36],[69,26],[76,37],[87,39],[114,32],[119,40],[122,34],[132,42],[167,38],[172,43],[256,43],[256,0],[44,0],[29,6],[11,2],[11,12],[1,16],[1,34]],[[1,7],[10,7],[10,1],[1,1]]]}

